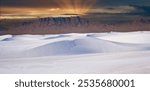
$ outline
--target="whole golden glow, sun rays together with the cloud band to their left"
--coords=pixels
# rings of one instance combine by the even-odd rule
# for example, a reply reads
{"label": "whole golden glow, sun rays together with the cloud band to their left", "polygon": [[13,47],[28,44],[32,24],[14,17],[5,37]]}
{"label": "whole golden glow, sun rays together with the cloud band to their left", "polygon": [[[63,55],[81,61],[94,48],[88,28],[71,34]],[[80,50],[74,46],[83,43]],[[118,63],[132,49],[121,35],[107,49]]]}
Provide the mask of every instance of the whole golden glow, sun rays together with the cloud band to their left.
{"label": "whole golden glow, sun rays together with the cloud band to their left", "polygon": [[58,16],[63,14],[85,14],[95,0],[55,0],[57,7],[0,7],[0,19],[3,18],[36,18]]}

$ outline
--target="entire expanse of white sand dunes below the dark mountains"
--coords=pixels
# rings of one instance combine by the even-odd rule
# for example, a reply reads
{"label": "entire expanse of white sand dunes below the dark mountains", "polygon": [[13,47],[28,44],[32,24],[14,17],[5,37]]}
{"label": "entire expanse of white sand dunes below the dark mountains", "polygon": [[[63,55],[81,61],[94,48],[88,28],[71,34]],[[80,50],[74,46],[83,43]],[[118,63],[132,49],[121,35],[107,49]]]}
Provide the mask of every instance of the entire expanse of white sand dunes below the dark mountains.
{"label": "entire expanse of white sand dunes below the dark mountains", "polygon": [[150,73],[150,32],[0,36],[0,73]]}

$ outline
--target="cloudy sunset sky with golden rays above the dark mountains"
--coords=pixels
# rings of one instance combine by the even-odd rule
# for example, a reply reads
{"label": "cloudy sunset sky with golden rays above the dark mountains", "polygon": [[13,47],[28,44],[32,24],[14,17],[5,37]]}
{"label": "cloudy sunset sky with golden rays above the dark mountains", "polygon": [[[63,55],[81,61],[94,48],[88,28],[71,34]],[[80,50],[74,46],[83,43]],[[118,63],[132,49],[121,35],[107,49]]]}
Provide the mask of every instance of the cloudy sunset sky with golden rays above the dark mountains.
{"label": "cloudy sunset sky with golden rays above the dark mountains", "polygon": [[[150,6],[150,0],[0,0],[0,13],[1,17],[87,13],[91,7],[96,8],[96,12],[120,13],[134,10],[129,5]],[[114,9],[110,11],[103,7]]]}

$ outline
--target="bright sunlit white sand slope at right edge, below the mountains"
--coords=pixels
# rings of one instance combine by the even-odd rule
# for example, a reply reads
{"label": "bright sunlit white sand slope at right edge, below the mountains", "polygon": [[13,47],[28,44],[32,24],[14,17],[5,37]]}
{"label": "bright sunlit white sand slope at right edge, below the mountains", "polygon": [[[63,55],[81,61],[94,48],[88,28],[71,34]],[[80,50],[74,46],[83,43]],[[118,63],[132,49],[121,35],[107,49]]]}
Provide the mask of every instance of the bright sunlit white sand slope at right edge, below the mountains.
{"label": "bright sunlit white sand slope at right edge, below the mountains", "polygon": [[150,43],[150,32],[116,33],[110,36],[100,37],[100,39],[121,43],[145,44]]}

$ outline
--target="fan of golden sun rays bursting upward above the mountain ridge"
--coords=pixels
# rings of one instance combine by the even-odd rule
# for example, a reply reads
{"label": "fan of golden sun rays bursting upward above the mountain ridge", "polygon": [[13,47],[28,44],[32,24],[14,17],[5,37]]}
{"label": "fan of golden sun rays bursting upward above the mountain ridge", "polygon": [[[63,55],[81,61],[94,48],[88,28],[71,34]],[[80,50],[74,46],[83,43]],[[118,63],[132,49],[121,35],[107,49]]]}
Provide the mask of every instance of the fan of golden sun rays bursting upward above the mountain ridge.
{"label": "fan of golden sun rays bursting upward above the mountain ridge", "polygon": [[56,0],[58,6],[66,13],[85,14],[96,0]]}

